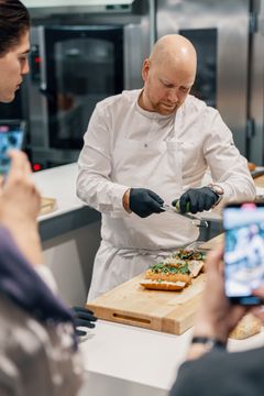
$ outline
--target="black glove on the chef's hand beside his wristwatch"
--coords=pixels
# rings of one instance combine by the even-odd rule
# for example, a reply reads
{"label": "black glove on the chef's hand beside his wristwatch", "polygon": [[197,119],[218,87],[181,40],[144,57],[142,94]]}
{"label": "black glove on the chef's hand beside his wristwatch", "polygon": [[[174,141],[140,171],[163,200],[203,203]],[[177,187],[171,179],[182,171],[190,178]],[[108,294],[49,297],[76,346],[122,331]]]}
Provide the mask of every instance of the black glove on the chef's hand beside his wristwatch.
{"label": "black glove on the chef's hand beside his wristwatch", "polygon": [[[209,187],[190,188],[179,198],[179,210],[182,213],[190,211],[197,213],[198,211],[209,210],[217,202],[218,195]],[[175,206],[177,199],[172,202]]]}

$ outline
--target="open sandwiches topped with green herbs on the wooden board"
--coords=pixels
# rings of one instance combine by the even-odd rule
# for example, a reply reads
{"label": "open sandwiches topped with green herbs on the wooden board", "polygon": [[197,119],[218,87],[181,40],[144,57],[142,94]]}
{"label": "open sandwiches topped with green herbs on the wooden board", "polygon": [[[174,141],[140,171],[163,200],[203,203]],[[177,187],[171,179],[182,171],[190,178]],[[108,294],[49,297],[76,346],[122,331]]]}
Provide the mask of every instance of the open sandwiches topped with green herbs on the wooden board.
{"label": "open sandwiches topped with green herbs on the wooden board", "polygon": [[140,284],[147,289],[175,292],[191,284],[204,267],[205,253],[179,250],[162,263],[152,265]]}

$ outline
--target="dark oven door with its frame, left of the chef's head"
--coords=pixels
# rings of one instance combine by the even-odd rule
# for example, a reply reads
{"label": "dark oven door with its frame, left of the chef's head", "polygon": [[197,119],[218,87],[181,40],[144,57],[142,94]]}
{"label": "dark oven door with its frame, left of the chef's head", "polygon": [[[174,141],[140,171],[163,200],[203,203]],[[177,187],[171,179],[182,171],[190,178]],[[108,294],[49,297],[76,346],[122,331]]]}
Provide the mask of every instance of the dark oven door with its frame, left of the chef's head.
{"label": "dark oven door with its frame, left of the chef's head", "polygon": [[96,103],[123,89],[123,28],[38,26],[37,42],[31,112],[33,119],[38,114],[41,128],[33,125],[31,143],[50,151],[80,150]]}

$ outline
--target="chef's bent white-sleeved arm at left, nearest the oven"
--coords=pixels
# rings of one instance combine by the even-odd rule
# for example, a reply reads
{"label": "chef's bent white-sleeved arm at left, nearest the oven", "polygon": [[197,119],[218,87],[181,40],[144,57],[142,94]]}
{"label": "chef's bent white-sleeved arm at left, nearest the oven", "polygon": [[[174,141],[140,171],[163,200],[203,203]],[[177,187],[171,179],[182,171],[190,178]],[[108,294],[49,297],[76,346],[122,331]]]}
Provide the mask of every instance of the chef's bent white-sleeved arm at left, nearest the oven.
{"label": "chef's bent white-sleeved arm at left, nearest the oven", "polygon": [[129,216],[122,199],[130,187],[111,182],[111,120],[98,106],[84,141],[78,160],[77,196],[100,212],[112,217]]}

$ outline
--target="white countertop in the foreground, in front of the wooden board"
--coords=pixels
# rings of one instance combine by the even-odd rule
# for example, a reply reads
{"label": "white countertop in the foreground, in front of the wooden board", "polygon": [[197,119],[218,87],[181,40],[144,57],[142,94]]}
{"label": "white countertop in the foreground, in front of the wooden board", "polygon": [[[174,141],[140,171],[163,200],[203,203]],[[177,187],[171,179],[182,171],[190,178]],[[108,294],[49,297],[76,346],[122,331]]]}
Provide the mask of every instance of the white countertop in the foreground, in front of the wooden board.
{"label": "white countertop in the foreground, in front of the wooden board", "polygon": [[[101,381],[105,376],[106,395],[108,378],[113,377],[151,386],[155,396],[155,389],[172,387],[185,360],[191,333],[193,329],[189,329],[182,336],[173,336],[98,320],[96,328],[80,343],[85,370],[101,374]],[[246,340],[230,340],[228,348],[242,351],[260,345],[264,345],[264,331]]]}

